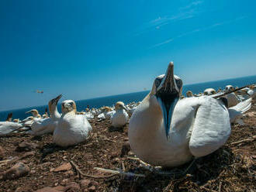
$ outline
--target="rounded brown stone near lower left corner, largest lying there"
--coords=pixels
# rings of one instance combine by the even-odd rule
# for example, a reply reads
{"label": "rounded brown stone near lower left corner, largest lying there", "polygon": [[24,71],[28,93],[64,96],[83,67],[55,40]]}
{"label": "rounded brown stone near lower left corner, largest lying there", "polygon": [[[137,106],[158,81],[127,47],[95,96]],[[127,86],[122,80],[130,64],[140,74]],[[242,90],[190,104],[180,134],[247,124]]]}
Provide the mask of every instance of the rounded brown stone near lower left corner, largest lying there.
{"label": "rounded brown stone near lower left corner, largest lying there", "polygon": [[12,166],[9,170],[6,170],[3,173],[4,180],[12,180],[22,176],[26,176],[29,173],[29,166],[24,163],[16,163],[16,165]]}

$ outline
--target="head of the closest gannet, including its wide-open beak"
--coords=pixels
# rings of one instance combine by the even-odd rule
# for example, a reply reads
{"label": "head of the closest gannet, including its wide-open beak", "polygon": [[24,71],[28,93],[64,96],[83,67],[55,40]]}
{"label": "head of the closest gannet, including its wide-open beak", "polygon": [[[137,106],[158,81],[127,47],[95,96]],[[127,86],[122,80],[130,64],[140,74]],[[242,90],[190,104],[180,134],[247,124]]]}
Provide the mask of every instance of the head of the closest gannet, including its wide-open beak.
{"label": "head of the closest gannet, including its wide-open beak", "polygon": [[181,94],[182,79],[174,74],[174,64],[171,62],[166,73],[154,80],[150,92],[150,98],[152,98],[154,104],[162,112],[166,136],[168,136],[170,131],[173,111]]}

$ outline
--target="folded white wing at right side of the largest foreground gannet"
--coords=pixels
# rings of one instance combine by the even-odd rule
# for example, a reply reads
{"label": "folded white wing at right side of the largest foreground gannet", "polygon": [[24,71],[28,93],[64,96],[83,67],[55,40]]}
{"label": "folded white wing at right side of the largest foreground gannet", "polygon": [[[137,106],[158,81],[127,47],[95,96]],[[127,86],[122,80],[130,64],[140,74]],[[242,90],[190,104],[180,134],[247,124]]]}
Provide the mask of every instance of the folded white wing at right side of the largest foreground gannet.
{"label": "folded white wing at right side of the largest foreground gannet", "polygon": [[223,102],[214,98],[203,99],[195,114],[190,152],[195,157],[213,153],[227,141],[230,130],[229,113]]}

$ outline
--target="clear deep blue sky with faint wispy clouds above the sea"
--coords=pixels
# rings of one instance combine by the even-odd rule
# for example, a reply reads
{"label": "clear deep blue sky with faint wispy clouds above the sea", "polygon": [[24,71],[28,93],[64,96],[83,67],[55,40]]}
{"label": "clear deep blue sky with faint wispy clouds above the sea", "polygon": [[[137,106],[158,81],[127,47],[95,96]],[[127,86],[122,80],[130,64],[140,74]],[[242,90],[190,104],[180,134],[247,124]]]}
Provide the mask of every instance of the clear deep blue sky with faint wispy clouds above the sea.
{"label": "clear deep blue sky with faint wispy clouds above the sea", "polygon": [[[254,1],[1,1],[0,111],[256,74]],[[33,91],[43,90],[43,94]]]}

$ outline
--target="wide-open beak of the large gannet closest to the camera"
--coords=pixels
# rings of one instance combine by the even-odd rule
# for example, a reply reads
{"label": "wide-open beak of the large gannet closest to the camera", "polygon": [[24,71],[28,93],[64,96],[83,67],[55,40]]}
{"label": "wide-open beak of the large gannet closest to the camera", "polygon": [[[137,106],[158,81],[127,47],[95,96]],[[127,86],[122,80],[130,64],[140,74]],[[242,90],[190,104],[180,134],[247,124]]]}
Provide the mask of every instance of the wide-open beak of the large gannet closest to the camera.
{"label": "wide-open beak of the large gannet closest to the camera", "polygon": [[161,81],[161,84],[157,87],[157,101],[161,106],[161,111],[164,118],[164,128],[165,134],[168,137],[170,131],[171,118],[175,105],[178,102],[179,90],[175,81],[174,75],[174,64],[169,63],[164,79]]}

